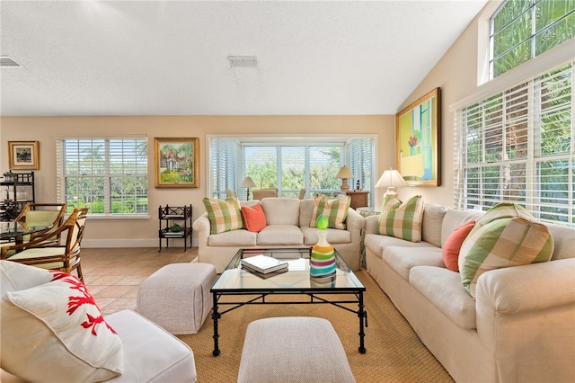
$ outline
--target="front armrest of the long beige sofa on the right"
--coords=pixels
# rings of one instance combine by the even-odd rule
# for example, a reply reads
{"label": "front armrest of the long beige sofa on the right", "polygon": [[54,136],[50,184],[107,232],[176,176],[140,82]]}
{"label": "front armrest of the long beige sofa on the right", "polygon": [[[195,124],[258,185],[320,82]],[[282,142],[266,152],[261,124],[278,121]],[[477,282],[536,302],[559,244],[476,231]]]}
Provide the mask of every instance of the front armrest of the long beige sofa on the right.
{"label": "front armrest of the long beige sofa on the right", "polygon": [[500,376],[543,380],[544,365],[562,371],[557,381],[575,379],[575,369],[565,370],[575,360],[573,275],[575,258],[568,258],[485,272],[478,279],[477,334],[493,352]]}

